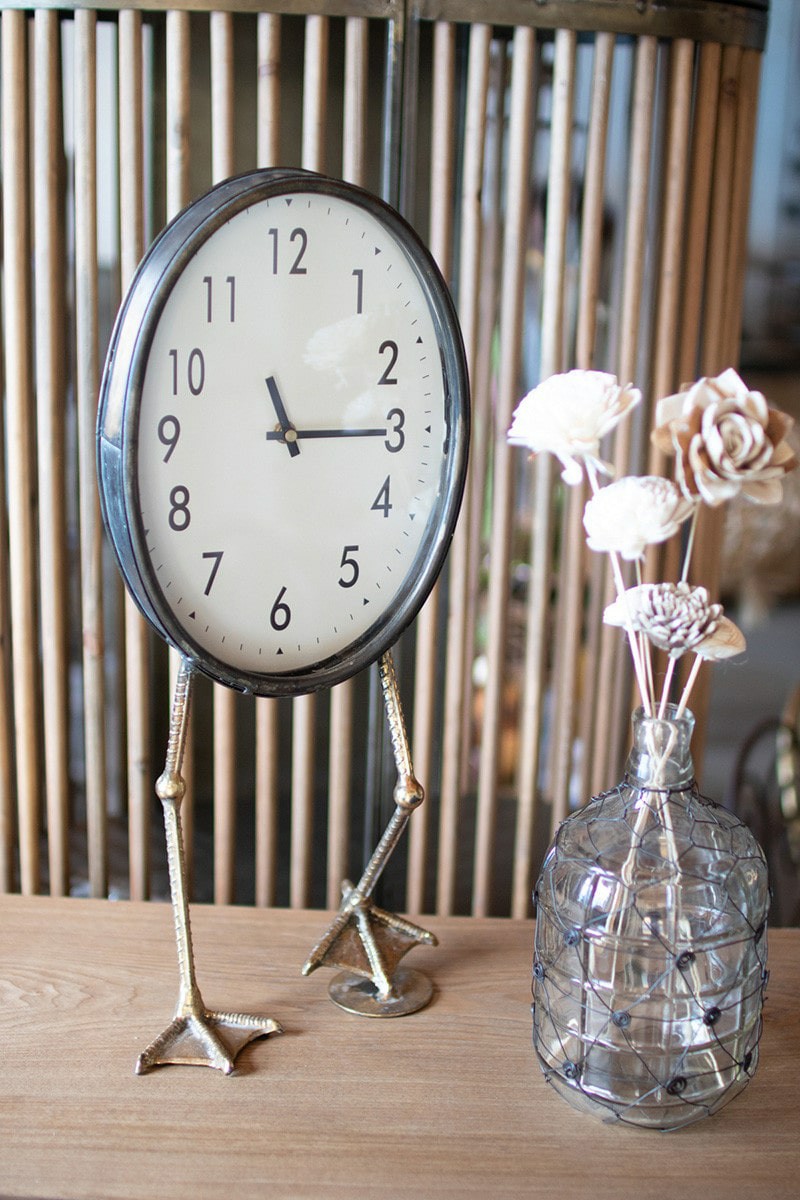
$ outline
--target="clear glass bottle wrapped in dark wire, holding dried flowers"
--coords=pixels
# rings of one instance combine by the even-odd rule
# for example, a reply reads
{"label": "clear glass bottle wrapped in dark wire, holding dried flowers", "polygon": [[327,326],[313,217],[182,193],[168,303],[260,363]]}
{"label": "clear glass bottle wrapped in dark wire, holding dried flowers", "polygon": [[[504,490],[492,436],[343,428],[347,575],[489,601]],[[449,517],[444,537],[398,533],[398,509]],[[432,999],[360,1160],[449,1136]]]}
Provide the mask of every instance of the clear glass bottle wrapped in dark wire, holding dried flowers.
{"label": "clear glass bottle wrapped in dark wire, holding dried flowers", "polygon": [[559,827],[536,886],[534,1045],[606,1121],[675,1129],[758,1063],[764,853],[694,782],[694,719],[633,714],[622,782]]}

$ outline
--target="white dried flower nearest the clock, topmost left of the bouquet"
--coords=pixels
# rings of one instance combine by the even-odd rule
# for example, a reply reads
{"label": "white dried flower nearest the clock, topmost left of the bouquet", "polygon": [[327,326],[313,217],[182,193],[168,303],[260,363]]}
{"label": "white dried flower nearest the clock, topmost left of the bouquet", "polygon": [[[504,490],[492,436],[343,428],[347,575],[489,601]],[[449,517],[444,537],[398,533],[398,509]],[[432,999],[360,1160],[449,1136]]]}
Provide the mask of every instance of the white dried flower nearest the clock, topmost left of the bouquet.
{"label": "white dried flower nearest the clock, topmost left of the bouquet", "polygon": [[600,460],[600,443],[640,400],[637,388],[620,388],[616,376],[603,371],[554,374],[519,401],[509,442],[534,454],[554,454],[564,482],[581,484],[584,461],[609,474]]}

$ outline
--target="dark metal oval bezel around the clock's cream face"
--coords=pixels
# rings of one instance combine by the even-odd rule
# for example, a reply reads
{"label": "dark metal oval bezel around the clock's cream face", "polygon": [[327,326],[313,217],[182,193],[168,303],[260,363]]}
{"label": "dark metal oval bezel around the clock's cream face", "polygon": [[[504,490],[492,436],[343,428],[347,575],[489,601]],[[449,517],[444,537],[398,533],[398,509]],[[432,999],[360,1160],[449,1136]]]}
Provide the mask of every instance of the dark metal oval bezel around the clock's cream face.
{"label": "dark metal oval bezel around the clock's cream face", "polygon": [[[403,595],[339,654],[290,672],[248,672],[230,667],[190,636],[164,601],[146,550],[138,502],[138,422],[150,346],[175,282],[197,250],[243,209],[276,196],[318,192],[356,204],[389,229],[427,296],[445,383],[446,462],[441,493]],[[464,348],[450,296],[435,262],[419,235],[369,192],[303,170],[260,169],[234,176],[190,204],[156,239],[120,308],[101,385],[97,466],[103,521],[128,590],[155,630],[194,667],[239,691],[281,696],[341,683],[375,661],[417,614],[429,594],[452,539],[464,488],[469,444],[469,383]]]}

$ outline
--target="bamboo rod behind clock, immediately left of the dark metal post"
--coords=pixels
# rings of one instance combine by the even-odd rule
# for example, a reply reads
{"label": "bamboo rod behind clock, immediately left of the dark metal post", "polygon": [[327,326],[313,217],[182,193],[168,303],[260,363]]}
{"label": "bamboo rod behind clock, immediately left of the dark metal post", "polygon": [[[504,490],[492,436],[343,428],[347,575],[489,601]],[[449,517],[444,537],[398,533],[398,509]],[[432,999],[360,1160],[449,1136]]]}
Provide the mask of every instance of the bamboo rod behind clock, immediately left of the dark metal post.
{"label": "bamboo rod behind clock, immediately left of the dark metal post", "polygon": [[[344,26],[344,132],[342,178],[363,184],[367,131],[367,22],[350,17]],[[350,792],[353,787],[353,680],[331,691],[327,786],[326,904],[341,900],[349,875]]]}

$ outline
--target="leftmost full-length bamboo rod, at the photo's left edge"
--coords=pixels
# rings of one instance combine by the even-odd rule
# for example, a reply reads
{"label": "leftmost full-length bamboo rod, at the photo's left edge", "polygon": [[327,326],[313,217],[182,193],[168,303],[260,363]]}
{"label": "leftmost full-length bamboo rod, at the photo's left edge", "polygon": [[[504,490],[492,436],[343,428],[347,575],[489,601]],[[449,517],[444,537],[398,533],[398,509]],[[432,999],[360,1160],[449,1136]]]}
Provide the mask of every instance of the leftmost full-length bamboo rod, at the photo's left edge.
{"label": "leftmost full-length bamboo rod, at the photo's left edge", "polygon": [[28,36],[24,12],[2,13],[2,236],[6,323],[8,565],[20,888],[40,886],[34,395],[29,280]]}

